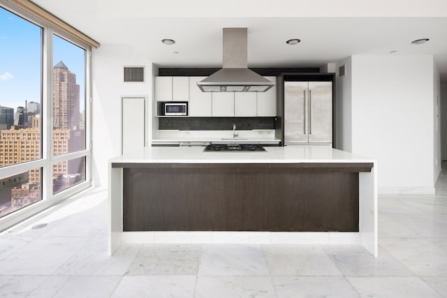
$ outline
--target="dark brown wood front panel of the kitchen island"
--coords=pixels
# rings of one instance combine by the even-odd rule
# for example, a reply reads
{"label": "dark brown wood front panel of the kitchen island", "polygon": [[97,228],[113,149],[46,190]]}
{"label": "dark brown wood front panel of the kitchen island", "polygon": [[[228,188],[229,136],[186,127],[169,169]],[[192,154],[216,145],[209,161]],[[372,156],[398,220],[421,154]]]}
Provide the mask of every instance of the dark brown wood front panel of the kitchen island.
{"label": "dark brown wood front panel of the kitchen island", "polygon": [[358,232],[372,163],[120,163],[123,231]]}

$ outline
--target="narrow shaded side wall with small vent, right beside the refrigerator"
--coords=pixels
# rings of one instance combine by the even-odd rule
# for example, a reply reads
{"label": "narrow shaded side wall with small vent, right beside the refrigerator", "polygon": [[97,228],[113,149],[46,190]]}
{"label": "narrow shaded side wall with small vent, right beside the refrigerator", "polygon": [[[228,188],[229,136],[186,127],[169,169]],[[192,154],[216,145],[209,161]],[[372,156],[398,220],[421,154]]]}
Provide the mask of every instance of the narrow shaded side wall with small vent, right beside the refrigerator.
{"label": "narrow shaded side wall with small vent, right beside the refrigerator", "polygon": [[[345,75],[339,76],[339,67],[345,66]],[[352,151],[352,98],[351,98],[351,57],[337,62],[335,82],[335,147]]]}

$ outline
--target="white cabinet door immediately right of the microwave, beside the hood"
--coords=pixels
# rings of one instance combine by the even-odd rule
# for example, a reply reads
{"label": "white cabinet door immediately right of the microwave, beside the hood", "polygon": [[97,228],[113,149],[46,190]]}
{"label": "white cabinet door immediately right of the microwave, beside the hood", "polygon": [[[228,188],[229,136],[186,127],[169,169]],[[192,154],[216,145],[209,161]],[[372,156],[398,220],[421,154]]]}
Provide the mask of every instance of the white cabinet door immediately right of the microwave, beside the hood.
{"label": "white cabinet door immediately right of the microwave, beside the hood", "polygon": [[211,92],[202,92],[197,87],[197,82],[206,77],[189,77],[189,116],[190,117],[211,117]]}

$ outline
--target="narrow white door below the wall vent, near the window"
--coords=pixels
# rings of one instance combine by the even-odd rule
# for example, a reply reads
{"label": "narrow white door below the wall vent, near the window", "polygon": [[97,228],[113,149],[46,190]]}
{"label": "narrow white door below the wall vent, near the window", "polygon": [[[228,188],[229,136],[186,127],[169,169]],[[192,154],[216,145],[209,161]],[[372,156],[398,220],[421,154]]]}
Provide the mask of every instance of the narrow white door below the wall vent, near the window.
{"label": "narrow white door below the wall vent, near the window", "polygon": [[122,98],[122,154],[145,147],[145,98]]}

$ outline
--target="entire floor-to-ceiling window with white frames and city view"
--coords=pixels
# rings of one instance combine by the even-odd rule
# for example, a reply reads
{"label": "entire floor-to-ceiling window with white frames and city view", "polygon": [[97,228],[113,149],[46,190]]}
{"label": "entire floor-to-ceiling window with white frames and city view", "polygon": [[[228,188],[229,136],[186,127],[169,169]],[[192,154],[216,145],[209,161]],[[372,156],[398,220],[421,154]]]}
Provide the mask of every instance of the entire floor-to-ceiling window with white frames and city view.
{"label": "entire floor-to-ceiling window with white frames and city view", "polygon": [[6,5],[0,2],[0,232],[87,188],[91,156],[90,44],[37,10]]}

